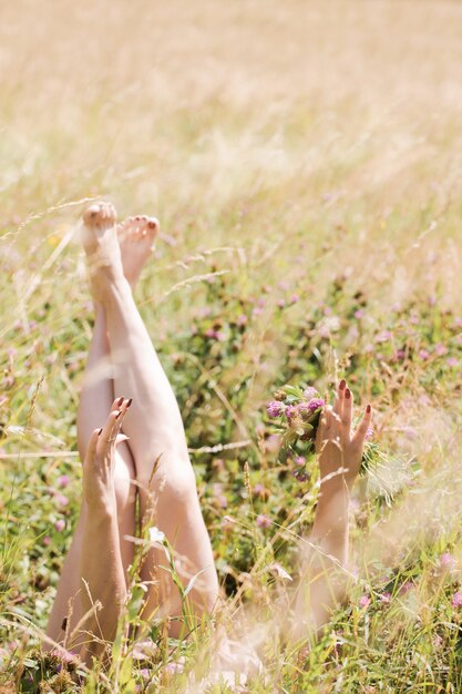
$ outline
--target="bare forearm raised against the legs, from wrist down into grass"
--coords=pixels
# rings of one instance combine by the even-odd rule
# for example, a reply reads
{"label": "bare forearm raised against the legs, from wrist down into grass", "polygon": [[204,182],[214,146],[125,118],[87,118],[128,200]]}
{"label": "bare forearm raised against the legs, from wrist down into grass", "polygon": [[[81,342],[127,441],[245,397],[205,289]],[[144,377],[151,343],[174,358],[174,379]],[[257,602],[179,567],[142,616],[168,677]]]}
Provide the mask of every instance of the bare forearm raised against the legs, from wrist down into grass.
{"label": "bare forearm raised against the legs, from wrist down into grass", "polygon": [[[89,508],[81,555],[82,657],[90,664],[113,642],[126,596],[115,512]],[[94,637],[92,637],[94,636]]]}

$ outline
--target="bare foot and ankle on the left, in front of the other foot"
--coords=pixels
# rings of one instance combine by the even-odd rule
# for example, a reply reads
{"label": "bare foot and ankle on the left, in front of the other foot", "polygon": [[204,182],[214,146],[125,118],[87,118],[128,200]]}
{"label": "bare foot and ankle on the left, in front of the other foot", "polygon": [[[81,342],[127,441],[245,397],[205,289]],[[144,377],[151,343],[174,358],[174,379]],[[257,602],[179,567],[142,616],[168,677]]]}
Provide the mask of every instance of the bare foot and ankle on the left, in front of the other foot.
{"label": "bare foot and ankle on the left, in front of the other foot", "polygon": [[107,279],[123,276],[115,217],[115,207],[111,203],[96,203],[83,213],[83,247],[96,300],[101,298]]}

